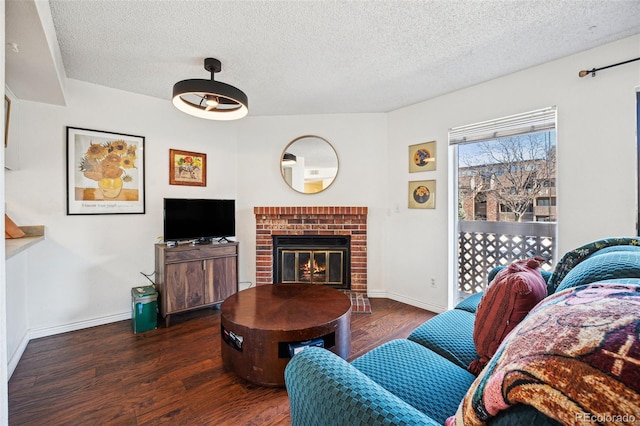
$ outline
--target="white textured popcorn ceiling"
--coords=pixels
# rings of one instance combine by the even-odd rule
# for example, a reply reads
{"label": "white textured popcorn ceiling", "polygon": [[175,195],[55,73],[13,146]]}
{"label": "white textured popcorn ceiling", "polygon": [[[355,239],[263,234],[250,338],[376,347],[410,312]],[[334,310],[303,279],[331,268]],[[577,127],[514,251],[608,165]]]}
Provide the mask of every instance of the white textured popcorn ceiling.
{"label": "white textured popcorn ceiling", "polygon": [[640,33],[638,0],[49,3],[67,77],[169,102],[215,57],[254,116],[387,112]]}

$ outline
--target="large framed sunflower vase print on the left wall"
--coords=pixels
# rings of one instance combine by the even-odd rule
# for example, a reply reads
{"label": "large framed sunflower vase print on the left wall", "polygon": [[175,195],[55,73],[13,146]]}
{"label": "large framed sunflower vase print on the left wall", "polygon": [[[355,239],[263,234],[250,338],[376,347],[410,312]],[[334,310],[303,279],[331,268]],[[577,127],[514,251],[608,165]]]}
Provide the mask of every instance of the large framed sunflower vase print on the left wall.
{"label": "large framed sunflower vase print on the left wall", "polygon": [[144,214],[144,137],[67,127],[67,214]]}

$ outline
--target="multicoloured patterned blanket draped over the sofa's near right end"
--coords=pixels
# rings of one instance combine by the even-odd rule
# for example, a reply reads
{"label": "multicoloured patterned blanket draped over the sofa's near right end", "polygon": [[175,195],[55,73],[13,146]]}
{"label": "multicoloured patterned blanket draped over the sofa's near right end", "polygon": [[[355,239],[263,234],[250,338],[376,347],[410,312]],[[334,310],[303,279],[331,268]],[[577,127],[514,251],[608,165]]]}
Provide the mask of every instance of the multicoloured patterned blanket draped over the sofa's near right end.
{"label": "multicoloured patterned blanket draped over the sofa's near right end", "polygon": [[591,284],[540,302],[446,424],[483,425],[518,403],[566,425],[640,424],[640,287]]}

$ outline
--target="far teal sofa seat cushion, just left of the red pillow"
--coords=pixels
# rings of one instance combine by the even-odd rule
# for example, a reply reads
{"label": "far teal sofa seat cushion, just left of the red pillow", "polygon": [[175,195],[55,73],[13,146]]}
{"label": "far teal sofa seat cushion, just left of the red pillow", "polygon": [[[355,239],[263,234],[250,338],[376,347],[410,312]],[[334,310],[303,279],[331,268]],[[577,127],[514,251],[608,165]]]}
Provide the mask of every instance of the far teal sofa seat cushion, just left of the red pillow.
{"label": "far teal sofa seat cushion, just left of the red pillow", "polygon": [[470,312],[453,309],[426,321],[407,338],[466,369],[478,358],[473,344],[475,318]]}

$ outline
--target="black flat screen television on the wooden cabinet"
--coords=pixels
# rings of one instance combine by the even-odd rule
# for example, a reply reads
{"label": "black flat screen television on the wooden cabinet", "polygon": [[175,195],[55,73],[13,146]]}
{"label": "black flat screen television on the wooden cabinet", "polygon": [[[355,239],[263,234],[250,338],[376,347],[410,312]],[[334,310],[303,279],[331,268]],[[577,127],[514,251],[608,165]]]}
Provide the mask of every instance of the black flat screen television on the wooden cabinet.
{"label": "black flat screen television on the wooden cabinet", "polygon": [[214,240],[236,235],[235,200],[164,199],[164,240]]}

